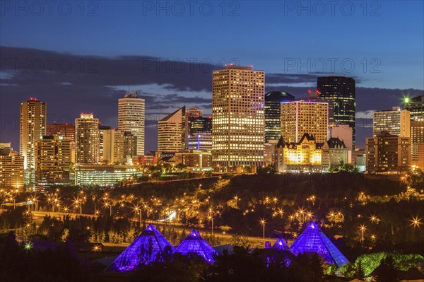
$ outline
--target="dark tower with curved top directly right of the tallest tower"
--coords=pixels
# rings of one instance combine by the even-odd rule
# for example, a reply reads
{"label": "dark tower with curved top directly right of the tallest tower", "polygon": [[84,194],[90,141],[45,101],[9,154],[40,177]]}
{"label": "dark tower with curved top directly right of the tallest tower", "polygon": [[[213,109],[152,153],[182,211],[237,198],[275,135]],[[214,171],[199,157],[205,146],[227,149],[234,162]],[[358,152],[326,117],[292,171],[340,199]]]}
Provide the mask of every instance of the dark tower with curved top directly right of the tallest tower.
{"label": "dark tower with curved top directly right of the tallest tower", "polygon": [[294,101],[287,92],[272,91],[265,94],[265,142],[280,139],[281,102]]}

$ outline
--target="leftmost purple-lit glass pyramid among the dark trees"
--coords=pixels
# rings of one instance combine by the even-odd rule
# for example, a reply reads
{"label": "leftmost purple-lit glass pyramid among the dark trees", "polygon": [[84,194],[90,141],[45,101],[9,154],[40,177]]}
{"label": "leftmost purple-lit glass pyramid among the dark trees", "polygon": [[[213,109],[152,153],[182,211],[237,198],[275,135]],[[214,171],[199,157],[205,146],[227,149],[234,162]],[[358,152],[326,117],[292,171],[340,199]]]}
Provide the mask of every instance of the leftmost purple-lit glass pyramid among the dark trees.
{"label": "leftmost purple-lit glass pyramid among the dark trees", "polygon": [[136,237],[136,240],[107,267],[106,271],[133,271],[140,264],[154,262],[160,254],[163,254],[166,247],[169,247],[170,252],[174,252],[174,247],[160,234],[155,226],[148,225],[139,237]]}

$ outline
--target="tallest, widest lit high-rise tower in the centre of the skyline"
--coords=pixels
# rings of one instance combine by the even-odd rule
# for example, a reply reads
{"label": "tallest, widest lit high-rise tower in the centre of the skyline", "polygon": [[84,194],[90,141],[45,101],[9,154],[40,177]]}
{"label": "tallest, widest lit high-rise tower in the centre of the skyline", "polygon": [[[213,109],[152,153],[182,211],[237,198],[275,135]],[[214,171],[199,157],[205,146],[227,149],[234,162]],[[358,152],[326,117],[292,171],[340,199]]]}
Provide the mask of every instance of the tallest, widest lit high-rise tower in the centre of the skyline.
{"label": "tallest, widest lit high-rise tower in the centre of the skyline", "polygon": [[264,71],[255,71],[252,66],[232,65],[213,71],[212,155],[215,168],[264,164],[264,93]]}

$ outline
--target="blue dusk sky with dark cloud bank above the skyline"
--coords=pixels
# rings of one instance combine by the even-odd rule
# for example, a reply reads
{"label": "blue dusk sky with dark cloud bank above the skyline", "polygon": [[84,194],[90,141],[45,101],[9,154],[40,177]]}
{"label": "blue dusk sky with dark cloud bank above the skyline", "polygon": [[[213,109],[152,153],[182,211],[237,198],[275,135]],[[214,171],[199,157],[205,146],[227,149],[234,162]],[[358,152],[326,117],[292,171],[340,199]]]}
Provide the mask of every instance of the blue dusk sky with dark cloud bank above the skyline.
{"label": "blue dusk sky with dark cloud bank above the skyline", "polygon": [[229,63],[264,70],[266,92],[297,98],[318,76],[353,76],[359,147],[372,111],[424,95],[423,1],[17,3],[0,3],[0,142],[16,150],[19,102],[47,102],[48,123],[93,112],[117,127],[131,88],[146,99],[153,151],[165,114],[211,114],[212,70]]}

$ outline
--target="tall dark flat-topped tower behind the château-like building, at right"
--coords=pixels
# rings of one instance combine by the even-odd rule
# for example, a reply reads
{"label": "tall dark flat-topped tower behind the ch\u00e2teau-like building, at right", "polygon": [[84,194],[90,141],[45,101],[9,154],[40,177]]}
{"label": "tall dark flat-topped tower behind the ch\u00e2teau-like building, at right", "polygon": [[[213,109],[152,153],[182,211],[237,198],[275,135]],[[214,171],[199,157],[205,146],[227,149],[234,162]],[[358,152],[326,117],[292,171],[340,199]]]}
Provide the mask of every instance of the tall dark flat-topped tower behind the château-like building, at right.
{"label": "tall dark flat-topped tower behind the ch\u00e2teau-like building, at right", "polygon": [[[353,150],[355,149],[355,79],[344,76],[317,78],[319,99],[329,102],[330,122],[348,124],[352,128]],[[332,112],[332,113],[331,113]]]}

